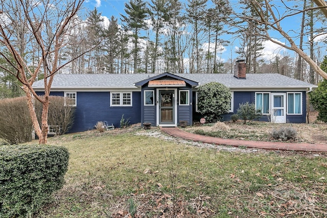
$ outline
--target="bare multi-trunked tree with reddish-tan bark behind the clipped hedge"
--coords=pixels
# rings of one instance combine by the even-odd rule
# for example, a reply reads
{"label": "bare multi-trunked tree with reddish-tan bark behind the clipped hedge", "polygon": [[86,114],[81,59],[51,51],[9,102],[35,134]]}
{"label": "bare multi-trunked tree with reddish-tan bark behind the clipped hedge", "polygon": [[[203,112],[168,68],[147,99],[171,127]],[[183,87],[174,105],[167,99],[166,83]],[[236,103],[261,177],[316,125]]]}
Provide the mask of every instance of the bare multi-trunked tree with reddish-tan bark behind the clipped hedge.
{"label": "bare multi-trunked tree with reddish-tan bark behind the clipped hedge", "polygon": [[[34,131],[42,144],[47,142],[48,136],[49,95],[53,77],[72,61],[60,61],[60,54],[69,43],[68,35],[74,33],[71,31],[71,23],[77,18],[83,2],[84,0],[13,0],[2,1],[0,5],[0,56],[8,61],[13,70],[3,65],[0,67],[15,75],[22,83]],[[40,54],[38,59],[31,58],[35,50]],[[43,97],[32,87],[34,81],[42,77]],[[33,97],[42,103],[41,124],[34,110]]]}

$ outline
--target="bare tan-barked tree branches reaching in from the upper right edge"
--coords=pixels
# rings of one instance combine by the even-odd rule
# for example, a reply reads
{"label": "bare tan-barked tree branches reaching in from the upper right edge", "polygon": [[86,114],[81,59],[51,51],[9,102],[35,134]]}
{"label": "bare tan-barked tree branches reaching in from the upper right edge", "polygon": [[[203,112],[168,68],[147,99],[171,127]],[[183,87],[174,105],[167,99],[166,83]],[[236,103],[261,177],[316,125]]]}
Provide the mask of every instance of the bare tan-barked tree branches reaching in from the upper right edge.
{"label": "bare tan-barked tree branches reaching in from the upper right edge", "polygon": [[[296,38],[299,37],[299,33],[296,36],[292,36],[283,29],[283,21],[304,13],[306,11],[312,10],[321,10],[323,14],[327,17],[327,5],[323,0],[313,0],[318,7],[310,7],[304,10],[300,10],[298,8],[292,8],[290,3],[286,4],[286,2],[281,1],[279,5],[274,4],[272,0],[249,0],[249,4],[251,4],[252,8],[255,10],[255,16],[246,16],[241,13],[237,13],[232,11],[233,16],[225,21],[228,22],[229,25],[238,27],[239,29],[243,29],[242,25],[246,23],[247,25],[252,25],[253,28],[260,28],[260,32],[258,33],[260,37],[263,37],[266,40],[270,40],[282,47],[285,47],[288,50],[296,52],[299,56],[303,58],[306,62],[310,64],[310,66],[323,78],[327,79],[327,74],[324,72],[319,65],[305,52],[302,51],[298,45],[296,44]],[[297,2],[297,1],[296,1]],[[296,3],[294,2],[294,3]],[[271,31],[279,33],[281,38],[279,40],[275,40],[271,35]],[[322,34],[322,29],[315,29],[315,33]],[[293,34],[294,30],[291,31]],[[281,42],[281,40],[285,40],[287,43]]]}

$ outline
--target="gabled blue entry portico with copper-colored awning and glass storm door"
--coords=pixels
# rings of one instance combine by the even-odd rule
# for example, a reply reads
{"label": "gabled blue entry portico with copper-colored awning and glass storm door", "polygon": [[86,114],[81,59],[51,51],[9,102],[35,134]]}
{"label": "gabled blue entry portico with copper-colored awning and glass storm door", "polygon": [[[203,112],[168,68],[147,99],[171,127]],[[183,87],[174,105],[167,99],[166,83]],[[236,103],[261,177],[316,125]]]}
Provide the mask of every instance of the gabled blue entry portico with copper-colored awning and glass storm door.
{"label": "gabled blue entry portico with copper-colored awning and glass storm door", "polygon": [[141,87],[142,123],[175,127],[179,120],[192,124],[192,90],[199,83],[168,72],[135,83]]}

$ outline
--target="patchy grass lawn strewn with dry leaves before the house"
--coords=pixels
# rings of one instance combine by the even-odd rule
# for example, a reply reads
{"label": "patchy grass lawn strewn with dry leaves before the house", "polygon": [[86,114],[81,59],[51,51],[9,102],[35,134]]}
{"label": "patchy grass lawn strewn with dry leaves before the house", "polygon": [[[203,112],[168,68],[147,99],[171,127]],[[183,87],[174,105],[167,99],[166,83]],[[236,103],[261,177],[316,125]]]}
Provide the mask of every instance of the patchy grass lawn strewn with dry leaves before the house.
{"label": "patchy grass lawn strewn with dry leaves before the house", "polygon": [[64,188],[37,217],[327,216],[326,154],[228,152],[142,133],[160,134],[49,138],[71,156]]}

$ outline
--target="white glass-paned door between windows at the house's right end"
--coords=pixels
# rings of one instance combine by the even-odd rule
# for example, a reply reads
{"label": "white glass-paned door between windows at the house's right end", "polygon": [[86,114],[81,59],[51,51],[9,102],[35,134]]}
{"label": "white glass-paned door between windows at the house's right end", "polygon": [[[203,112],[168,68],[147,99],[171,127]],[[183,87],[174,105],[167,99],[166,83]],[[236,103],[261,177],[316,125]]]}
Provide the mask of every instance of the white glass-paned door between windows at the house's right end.
{"label": "white glass-paned door between windows at the house's right end", "polygon": [[286,123],[286,93],[271,93],[271,122]]}

